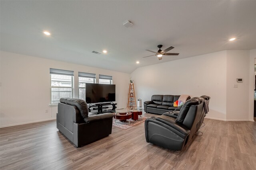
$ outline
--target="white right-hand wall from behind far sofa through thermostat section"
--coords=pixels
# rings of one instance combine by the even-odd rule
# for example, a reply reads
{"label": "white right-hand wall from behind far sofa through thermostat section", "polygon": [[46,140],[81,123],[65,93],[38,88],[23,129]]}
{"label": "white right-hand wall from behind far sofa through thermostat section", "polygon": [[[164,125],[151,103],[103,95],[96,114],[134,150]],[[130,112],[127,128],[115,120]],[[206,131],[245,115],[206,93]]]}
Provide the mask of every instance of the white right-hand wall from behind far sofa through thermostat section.
{"label": "white right-hand wall from behind far sofa through thermostat section", "polygon": [[[153,94],[208,95],[208,118],[253,121],[253,74],[256,50],[228,50],[166,63],[144,66],[132,72],[142,102]],[[252,76],[250,75],[252,74]],[[237,83],[236,78],[243,78]],[[233,88],[238,84],[238,88]],[[249,90],[250,89],[250,90]],[[250,97],[248,97],[250,96]],[[250,99],[250,100],[249,100]]]}

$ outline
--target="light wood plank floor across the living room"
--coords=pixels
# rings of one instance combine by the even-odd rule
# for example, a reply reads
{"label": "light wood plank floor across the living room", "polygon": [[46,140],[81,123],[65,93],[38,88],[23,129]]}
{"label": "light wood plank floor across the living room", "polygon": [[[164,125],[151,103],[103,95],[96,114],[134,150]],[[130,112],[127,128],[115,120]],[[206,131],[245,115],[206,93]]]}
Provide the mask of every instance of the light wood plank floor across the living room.
{"label": "light wood plank floor across the living room", "polygon": [[204,122],[203,135],[182,151],[146,143],[144,123],[126,130],[113,126],[110,136],[81,148],[58,132],[56,121],[6,127],[0,129],[0,168],[256,170],[255,122]]}

